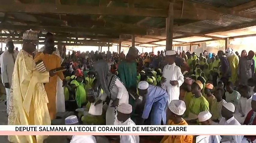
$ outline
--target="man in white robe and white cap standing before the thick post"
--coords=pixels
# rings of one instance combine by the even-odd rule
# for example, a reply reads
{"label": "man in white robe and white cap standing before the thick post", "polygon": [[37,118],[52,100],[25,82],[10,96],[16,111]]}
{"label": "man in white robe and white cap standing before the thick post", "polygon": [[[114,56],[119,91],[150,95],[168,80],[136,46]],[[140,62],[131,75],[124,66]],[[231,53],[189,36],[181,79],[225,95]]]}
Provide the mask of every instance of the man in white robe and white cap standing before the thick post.
{"label": "man in white robe and white cap standing before the thick post", "polygon": [[176,52],[174,50],[166,51],[165,60],[168,62],[163,69],[163,76],[161,79],[162,88],[165,89],[169,95],[168,105],[171,100],[179,100],[180,86],[184,82],[184,76],[180,67],[175,64]]}

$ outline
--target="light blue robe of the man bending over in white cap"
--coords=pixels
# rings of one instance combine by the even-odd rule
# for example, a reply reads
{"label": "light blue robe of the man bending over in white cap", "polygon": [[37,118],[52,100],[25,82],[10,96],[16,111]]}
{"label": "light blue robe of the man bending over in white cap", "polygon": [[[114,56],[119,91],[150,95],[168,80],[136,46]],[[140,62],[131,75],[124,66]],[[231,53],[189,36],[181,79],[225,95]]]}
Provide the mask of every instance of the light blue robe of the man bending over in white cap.
{"label": "light blue robe of the man bending over in white cap", "polygon": [[151,125],[161,125],[162,120],[165,125],[167,92],[161,87],[149,85],[145,100],[142,118],[147,119],[151,111]]}

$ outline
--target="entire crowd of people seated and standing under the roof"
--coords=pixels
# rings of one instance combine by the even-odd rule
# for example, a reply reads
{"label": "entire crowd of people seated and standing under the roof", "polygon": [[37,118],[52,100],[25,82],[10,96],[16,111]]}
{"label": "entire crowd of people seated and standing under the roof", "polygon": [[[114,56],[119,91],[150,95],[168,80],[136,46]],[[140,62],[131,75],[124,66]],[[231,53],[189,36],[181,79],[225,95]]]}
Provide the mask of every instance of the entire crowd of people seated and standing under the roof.
{"label": "entire crowd of people seated and standing under the roof", "polygon": [[[208,53],[174,50],[71,54],[55,48],[54,35],[36,51],[37,33],[23,34],[1,54],[8,125],[51,125],[57,112],[72,111],[66,125],[256,125],[256,57],[233,49]],[[87,114],[80,112],[86,111]],[[64,120],[64,119],[63,119]],[[201,136],[164,136],[161,143],[192,143]],[[8,136],[14,143],[41,143],[47,136]],[[70,143],[102,142],[72,136]],[[113,138],[106,138],[106,142]],[[256,136],[207,136],[201,142],[255,143]],[[120,143],[150,142],[136,135]]]}

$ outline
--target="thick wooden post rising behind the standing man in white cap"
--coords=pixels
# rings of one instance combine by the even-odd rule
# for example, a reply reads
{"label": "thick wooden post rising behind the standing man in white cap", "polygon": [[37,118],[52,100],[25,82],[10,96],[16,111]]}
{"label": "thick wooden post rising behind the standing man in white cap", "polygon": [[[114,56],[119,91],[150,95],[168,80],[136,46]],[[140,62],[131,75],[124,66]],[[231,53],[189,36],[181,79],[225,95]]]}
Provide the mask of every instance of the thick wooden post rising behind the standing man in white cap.
{"label": "thick wooden post rising behind the standing man in white cap", "polygon": [[166,18],[166,50],[172,49],[173,36],[173,3],[169,3],[168,17]]}

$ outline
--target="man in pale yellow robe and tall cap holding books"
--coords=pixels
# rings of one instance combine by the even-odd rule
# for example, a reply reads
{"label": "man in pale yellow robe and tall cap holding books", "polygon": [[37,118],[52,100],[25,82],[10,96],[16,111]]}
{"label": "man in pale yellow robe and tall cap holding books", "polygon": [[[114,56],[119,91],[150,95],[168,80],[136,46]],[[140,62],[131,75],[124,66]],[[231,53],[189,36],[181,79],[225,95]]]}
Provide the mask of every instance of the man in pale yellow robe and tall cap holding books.
{"label": "man in pale yellow robe and tall cap holding books", "polygon": [[[26,31],[23,47],[16,58],[10,90],[8,125],[51,125],[48,98],[43,83],[52,72],[37,70],[33,60],[37,34]],[[13,143],[43,143],[45,136],[8,136]]]}

